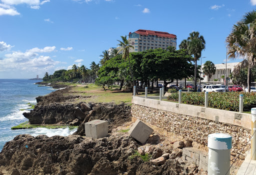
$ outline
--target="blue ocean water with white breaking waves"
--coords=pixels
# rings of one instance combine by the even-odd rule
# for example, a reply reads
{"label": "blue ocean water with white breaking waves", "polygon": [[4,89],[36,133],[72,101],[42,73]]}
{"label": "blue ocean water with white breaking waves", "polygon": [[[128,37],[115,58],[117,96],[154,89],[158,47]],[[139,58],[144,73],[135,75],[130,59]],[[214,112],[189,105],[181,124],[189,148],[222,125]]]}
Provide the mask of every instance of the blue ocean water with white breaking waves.
{"label": "blue ocean water with white breaking waves", "polygon": [[28,79],[0,79],[0,151],[5,142],[12,140],[18,134],[67,136],[76,131],[76,129],[69,130],[68,128],[10,129],[12,126],[28,121],[22,115],[23,112],[29,112],[27,108],[30,106],[27,103],[36,104],[35,97],[48,94],[55,90],[50,86],[38,86],[35,84],[38,81]]}

